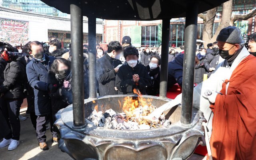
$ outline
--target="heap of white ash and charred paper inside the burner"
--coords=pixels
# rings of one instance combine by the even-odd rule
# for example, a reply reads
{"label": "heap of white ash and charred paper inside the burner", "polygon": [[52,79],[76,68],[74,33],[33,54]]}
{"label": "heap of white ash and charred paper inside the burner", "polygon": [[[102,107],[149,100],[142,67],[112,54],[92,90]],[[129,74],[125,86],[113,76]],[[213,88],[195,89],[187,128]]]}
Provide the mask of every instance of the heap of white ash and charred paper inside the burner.
{"label": "heap of white ash and charred paper inside the burner", "polygon": [[150,107],[140,106],[132,110],[132,114],[130,115],[116,113],[112,109],[105,111],[105,113],[102,113],[102,111],[97,112],[97,109],[94,109],[92,114],[86,118],[86,122],[95,126],[122,130],[144,130],[169,126],[171,122],[166,120],[164,115],[160,117],[159,122],[151,122],[143,119],[143,116],[149,115],[154,109],[155,107],[151,105]]}

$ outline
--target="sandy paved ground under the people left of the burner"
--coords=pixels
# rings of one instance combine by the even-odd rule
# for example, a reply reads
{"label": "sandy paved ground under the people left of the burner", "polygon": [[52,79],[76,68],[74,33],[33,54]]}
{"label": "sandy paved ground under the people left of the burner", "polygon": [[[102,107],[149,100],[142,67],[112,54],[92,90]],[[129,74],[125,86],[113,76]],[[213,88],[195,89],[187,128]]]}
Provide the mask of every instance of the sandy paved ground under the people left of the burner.
{"label": "sandy paved ground under the people left of the burner", "polygon": [[[22,107],[24,108],[24,107]],[[22,116],[25,116],[26,108],[22,109]],[[49,150],[42,151],[38,146],[35,130],[28,119],[21,123],[20,145],[12,151],[8,151],[8,147],[0,148],[0,160],[72,160],[68,154],[58,149],[57,143],[51,142],[50,130],[46,131],[47,144]],[[189,160],[204,160],[203,156],[193,154]],[[205,159],[206,160],[206,159]]]}

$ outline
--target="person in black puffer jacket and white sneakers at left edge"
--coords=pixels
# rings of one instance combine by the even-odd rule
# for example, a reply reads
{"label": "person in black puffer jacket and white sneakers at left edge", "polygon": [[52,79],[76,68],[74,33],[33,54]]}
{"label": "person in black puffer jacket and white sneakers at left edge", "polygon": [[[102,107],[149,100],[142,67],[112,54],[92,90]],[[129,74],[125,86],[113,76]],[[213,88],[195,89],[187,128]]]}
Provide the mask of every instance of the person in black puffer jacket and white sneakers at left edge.
{"label": "person in black puffer jacket and white sneakers at left edge", "polygon": [[[0,81],[0,107],[2,114],[9,126],[9,134],[0,142],[0,148],[8,146],[14,150],[20,144],[20,107],[24,98],[24,75],[26,61],[18,53],[8,52],[6,47],[1,49],[1,71],[6,64],[4,74]],[[11,48],[9,48],[11,50]],[[4,62],[6,61],[6,63]],[[2,73],[2,72],[1,72]]]}

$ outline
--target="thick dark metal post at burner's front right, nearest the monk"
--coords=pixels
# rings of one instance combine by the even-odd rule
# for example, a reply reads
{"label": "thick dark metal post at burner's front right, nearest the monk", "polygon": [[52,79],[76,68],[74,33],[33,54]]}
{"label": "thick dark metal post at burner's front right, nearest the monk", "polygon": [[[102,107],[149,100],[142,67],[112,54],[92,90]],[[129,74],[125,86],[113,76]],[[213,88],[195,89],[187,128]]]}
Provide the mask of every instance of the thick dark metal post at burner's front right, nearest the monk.
{"label": "thick dark metal post at burner's front right, nearest the monk", "polygon": [[196,56],[198,3],[188,3],[186,8],[185,51],[182,81],[182,111],[180,121],[190,124],[192,116],[194,71]]}

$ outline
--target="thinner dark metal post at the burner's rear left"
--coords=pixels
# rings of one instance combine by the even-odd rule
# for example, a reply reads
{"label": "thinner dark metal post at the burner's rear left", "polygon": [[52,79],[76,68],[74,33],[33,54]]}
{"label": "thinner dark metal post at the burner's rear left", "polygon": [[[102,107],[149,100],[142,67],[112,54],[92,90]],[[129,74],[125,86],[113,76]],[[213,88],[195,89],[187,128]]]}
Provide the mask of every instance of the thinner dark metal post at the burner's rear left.
{"label": "thinner dark metal post at the burner's rear left", "polygon": [[96,18],[88,17],[89,97],[96,98]]}

